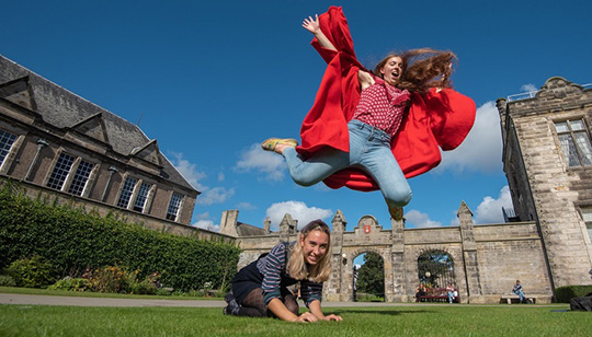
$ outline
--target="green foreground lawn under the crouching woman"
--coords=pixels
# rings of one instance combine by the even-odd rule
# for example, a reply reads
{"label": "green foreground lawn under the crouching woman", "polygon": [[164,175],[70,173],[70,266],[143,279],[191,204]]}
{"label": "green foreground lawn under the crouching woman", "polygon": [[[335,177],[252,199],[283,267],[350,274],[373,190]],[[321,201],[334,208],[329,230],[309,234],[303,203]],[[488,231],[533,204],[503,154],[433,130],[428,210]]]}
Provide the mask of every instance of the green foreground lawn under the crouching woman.
{"label": "green foreground lawn under the crouching woman", "polygon": [[0,305],[0,336],[589,336],[567,305],[330,307],[343,322],[224,316],[219,307]]}

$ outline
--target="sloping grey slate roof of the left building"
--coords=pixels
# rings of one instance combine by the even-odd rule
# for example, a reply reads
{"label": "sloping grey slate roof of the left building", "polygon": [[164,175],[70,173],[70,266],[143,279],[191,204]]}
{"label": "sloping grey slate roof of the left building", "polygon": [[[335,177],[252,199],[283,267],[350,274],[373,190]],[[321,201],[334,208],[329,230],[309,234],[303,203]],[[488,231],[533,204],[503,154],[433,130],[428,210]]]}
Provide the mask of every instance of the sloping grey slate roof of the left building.
{"label": "sloping grey slate roof of the left building", "polygon": [[[42,78],[31,70],[0,55],[0,86],[11,81],[27,78],[33,104],[25,106],[39,114],[43,120],[60,129],[76,128],[88,120],[100,119],[104,137],[113,151],[125,156],[137,156],[160,166],[160,176],[190,190],[198,191],[162,154],[156,140],[150,140],[143,130],[124,118],[69,92]],[[95,132],[95,135],[98,135]]]}

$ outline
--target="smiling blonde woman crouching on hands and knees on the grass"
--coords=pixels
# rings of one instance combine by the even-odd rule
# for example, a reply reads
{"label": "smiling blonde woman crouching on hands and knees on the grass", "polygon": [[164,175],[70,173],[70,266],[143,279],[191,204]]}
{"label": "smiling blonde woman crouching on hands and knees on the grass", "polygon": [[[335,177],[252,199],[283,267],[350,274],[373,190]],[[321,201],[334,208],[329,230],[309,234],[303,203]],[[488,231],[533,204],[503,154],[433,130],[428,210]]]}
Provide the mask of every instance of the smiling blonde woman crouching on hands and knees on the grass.
{"label": "smiling blonde woman crouching on hands and knees on the grass", "polygon": [[[321,311],[322,282],[331,272],[331,232],[320,220],[307,224],[292,243],[281,243],[270,253],[240,269],[224,313],[236,316],[275,316],[291,322],[342,321]],[[300,294],[310,312],[298,315],[298,302],[287,289],[300,282]]]}

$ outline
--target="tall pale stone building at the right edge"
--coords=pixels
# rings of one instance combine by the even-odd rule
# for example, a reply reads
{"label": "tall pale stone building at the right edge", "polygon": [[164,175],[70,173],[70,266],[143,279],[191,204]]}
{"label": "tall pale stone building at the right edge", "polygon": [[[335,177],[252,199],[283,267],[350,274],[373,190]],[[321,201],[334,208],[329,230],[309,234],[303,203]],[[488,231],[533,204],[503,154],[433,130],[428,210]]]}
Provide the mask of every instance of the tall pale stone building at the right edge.
{"label": "tall pale stone building at the right edge", "polygon": [[536,222],[554,287],[592,283],[592,88],[556,77],[497,104],[515,217]]}

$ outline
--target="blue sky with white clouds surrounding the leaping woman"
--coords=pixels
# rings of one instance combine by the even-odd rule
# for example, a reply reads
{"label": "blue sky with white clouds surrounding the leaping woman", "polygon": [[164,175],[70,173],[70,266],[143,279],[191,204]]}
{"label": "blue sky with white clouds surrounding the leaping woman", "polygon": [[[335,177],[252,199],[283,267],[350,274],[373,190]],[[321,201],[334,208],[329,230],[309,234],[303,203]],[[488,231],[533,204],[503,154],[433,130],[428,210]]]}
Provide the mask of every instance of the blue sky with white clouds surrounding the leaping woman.
{"label": "blue sky with white clouds surrounding the leaping woman", "polygon": [[10,1],[0,12],[0,54],[140,127],[198,190],[193,223],[330,222],[352,230],[365,214],[390,228],[382,195],[299,187],[269,137],[297,137],[325,63],[305,16],[342,5],[368,68],[391,50],[449,49],[455,89],[478,106],[469,138],[436,170],[410,179],[407,225],[455,224],[463,200],[478,223],[511,206],[501,164],[498,97],[560,75],[592,82],[584,1]]}

